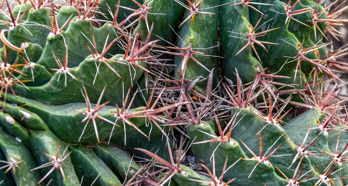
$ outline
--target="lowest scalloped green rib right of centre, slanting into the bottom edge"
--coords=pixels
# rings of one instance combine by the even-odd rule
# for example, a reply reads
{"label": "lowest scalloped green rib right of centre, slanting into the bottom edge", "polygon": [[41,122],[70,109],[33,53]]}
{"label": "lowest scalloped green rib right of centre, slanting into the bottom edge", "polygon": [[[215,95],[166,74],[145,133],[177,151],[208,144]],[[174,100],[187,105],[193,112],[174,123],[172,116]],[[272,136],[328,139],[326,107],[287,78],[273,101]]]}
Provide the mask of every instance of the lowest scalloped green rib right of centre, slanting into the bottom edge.
{"label": "lowest scalloped green rib right of centre, slanting into the bottom edge", "polygon": [[[198,133],[202,133],[200,131],[209,131],[209,126],[205,126],[204,128],[198,127],[201,130],[197,129]],[[199,130],[199,131],[198,131]],[[194,131],[195,132],[195,131]],[[197,133],[196,132],[196,133]],[[209,133],[208,133],[209,134]],[[191,134],[192,136],[195,135],[195,133]],[[197,135],[198,139],[202,140],[210,140],[211,136],[203,134],[203,137],[200,137],[202,135]],[[218,142],[210,142],[206,144],[195,144],[195,153],[197,154],[198,158],[205,159],[208,167],[213,169],[212,164],[212,153],[214,152],[215,156],[215,169],[220,169],[218,173],[221,173],[221,168],[223,167],[224,159],[226,159],[226,155],[228,155],[228,162],[227,165],[232,166],[231,170],[226,173],[225,177],[227,179],[232,178],[239,178],[234,181],[235,184],[256,184],[258,181],[266,181],[262,180],[262,177],[258,176],[258,172],[262,172],[262,174],[267,174],[268,182],[275,185],[282,185],[285,183],[285,180],[280,178],[275,172],[274,168],[270,164],[263,164],[260,162],[256,163],[256,161],[250,160],[243,160],[248,159],[248,157],[244,154],[242,148],[240,147],[239,143],[235,140],[231,140],[230,142],[224,142],[219,144]],[[241,160],[242,159],[242,160]],[[268,161],[267,161],[268,162]],[[269,163],[269,162],[268,162]],[[255,169],[256,168],[256,169]],[[243,171],[242,171],[243,170]],[[252,176],[251,176],[252,175]],[[261,179],[261,180],[260,180]]]}

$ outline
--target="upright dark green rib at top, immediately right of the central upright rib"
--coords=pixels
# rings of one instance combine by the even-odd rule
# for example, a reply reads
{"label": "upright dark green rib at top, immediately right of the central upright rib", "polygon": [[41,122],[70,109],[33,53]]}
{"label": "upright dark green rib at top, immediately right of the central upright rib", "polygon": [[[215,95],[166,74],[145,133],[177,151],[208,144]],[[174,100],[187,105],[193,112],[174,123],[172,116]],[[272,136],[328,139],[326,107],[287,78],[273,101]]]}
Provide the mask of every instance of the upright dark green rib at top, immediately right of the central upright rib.
{"label": "upright dark green rib at top, immediately right of the central upright rib", "polygon": [[[228,3],[229,1],[222,1],[222,4]],[[237,3],[239,1],[233,1],[233,3]],[[230,16],[228,16],[230,15]],[[238,55],[236,55],[239,50],[241,50],[246,42],[244,39],[246,37],[244,35],[240,35],[240,33],[244,33],[248,30],[248,21],[249,18],[249,9],[241,6],[221,6],[219,21],[224,22],[226,24],[220,24],[221,30],[221,54],[224,57],[224,62],[222,62],[223,70],[225,71],[226,77],[229,79],[235,79],[233,73],[234,68],[237,67],[237,64],[244,64],[243,66],[246,68],[239,67],[239,73],[244,82],[251,82],[256,75],[255,66],[258,65],[260,69],[262,69],[261,63],[252,55],[251,47],[247,47],[244,50],[240,51]],[[229,37],[231,36],[231,37]],[[236,37],[242,37],[244,39],[238,39]],[[234,50],[229,50],[230,48],[234,48]],[[234,64],[235,65],[230,65]],[[242,67],[242,66],[241,66]]]}

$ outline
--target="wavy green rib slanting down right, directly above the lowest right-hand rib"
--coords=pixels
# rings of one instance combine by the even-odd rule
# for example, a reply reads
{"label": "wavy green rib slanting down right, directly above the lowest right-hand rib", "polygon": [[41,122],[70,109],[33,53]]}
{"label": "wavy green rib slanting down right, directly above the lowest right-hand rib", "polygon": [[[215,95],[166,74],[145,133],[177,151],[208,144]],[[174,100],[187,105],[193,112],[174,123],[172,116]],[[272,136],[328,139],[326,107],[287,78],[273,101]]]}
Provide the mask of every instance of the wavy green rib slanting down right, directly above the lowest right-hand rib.
{"label": "wavy green rib slanting down right, directly above the lowest right-hand rib", "polygon": [[[246,144],[245,148],[246,147],[250,148],[252,151],[254,151],[254,153],[256,153],[259,150],[260,152],[262,150],[264,153],[265,151],[272,152],[281,144],[280,148],[277,149],[276,151],[277,153],[275,154],[275,156],[274,157],[271,156],[269,158],[269,161],[272,162],[272,164],[276,165],[277,168],[279,168],[280,170],[283,170],[282,172],[285,175],[287,175],[287,177],[293,176],[296,170],[296,166],[299,163],[302,163],[301,166],[303,166],[304,172],[307,172],[307,171],[314,172],[314,168],[311,166],[311,162],[309,161],[309,159],[303,159],[301,162],[299,161],[296,162],[298,149],[296,149],[291,142],[286,140],[286,138],[288,138],[288,135],[285,129],[282,128],[277,122],[275,122],[274,124],[272,124],[272,122],[270,121],[265,122],[264,118],[256,115],[257,111],[255,110],[250,111],[249,109],[242,109],[240,112],[235,110],[234,114],[237,114],[237,113],[239,113],[238,116],[243,116],[243,118],[241,117],[237,118],[239,122],[238,122],[238,125],[236,125],[236,127],[234,128],[234,131],[233,131],[234,133],[232,133],[231,136],[236,139],[245,141],[245,144]],[[273,120],[276,120],[276,118],[273,118]],[[260,134],[260,139],[258,141],[262,141],[263,149],[260,149],[258,144],[259,142],[256,141],[257,139],[254,138],[253,140],[247,140],[247,139],[250,139],[251,136],[240,135],[241,131],[247,130],[246,129],[246,127],[248,127],[246,125],[247,121],[253,121],[251,129],[248,129],[249,131],[248,135]],[[248,153],[247,149],[245,149],[245,151],[247,152],[248,156],[252,156],[250,153]],[[288,161],[288,159],[290,159],[291,161]],[[291,166],[289,166],[289,163]],[[279,172],[277,173],[280,175]]]}

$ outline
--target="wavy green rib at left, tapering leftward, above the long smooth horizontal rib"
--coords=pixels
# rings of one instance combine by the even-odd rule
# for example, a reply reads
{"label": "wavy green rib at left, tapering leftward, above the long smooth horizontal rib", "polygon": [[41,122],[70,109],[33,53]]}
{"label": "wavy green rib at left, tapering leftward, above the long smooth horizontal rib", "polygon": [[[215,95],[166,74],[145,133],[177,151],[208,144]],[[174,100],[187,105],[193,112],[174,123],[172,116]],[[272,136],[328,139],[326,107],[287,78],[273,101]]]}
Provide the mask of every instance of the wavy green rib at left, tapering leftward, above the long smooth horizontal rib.
{"label": "wavy green rib at left, tapering leftward, above the long smooth horizontal rib", "polygon": [[[120,57],[120,54],[115,55],[114,57],[110,58],[110,60],[119,60]],[[129,73],[129,68],[125,64],[118,64],[116,62],[106,62],[113,70],[119,72],[120,76],[122,75],[122,79],[119,79],[118,77],[116,79],[116,77],[114,77],[114,73],[109,69],[108,66],[103,64],[100,67],[96,67],[97,63],[95,63],[95,61],[90,58],[92,58],[92,55],[89,55],[84,61],[82,61],[78,68],[74,68],[71,70],[69,69],[71,75],[68,73],[62,73],[58,71],[52,76],[50,81],[44,85],[28,88],[15,85],[13,89],[15,90],[15,92],[18,92],[19,95],[26,95],[26,97],[28,98],[37,99],[38,101],[44,103],[64,104],[84,101],[84,97],[81,94],[75,94],[76,92],[79,92],[81,84],[84,84],[86,90],[88,92],[91,92],[89,97],[91,101],[94,102],[99,98],[99,95],[93,94],[94,91],[102,90],[104,87],[98,86],[97,88],[97,85],[100,85],[100,82],[108,79],[109,82],[106,83],[109,85],[109,87],[113,87],[113,89],[115,90],[111,92],[111,89],[107,87],[103,99],[105,100],[106,97],[113,104],[122,104],[122,98],[113,97],[112,94],[114,94],[115,91],[117,91],[118,94],[121,94],[122,86],[129,87],[132,85],[133,81],[136,82],[137,80],[139,80],[143,70],[135,68],[134,71],[132,69],[132,73]],[[120,60],[120,62],[122,62],[122,60]],[[139,65],[145,66],[145,63],[139,62]],[[98,75],[97,72],[99,70],[100,72],[104,73]],[[71,94],[71,92],[74,93]],[[44,97],[37,98],[36,95],[38,94],[42,94],[44,95]],[[60,96],[64,96],[65,99],[57,99],[57,97]]]}

